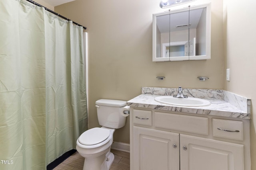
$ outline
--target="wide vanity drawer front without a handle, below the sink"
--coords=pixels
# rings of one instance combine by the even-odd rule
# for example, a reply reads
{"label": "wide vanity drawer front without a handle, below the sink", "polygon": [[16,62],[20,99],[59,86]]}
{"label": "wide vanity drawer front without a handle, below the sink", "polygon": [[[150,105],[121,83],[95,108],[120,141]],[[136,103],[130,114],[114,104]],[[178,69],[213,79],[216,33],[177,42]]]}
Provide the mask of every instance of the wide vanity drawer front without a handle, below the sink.
{"label": "wide vanity drawer front without a handle, below the sink", "polygon": [[208,118],[155,112],[155,126],[208,135]]}

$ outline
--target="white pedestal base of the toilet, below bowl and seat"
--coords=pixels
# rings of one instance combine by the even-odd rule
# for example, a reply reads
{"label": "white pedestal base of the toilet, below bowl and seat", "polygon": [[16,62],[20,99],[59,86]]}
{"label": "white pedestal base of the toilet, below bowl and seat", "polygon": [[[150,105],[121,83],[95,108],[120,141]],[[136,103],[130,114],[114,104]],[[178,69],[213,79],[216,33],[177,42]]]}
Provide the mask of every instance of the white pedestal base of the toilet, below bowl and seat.
{"label": "white pedestal base of the toilet, below bowl and seat", "polygon": [[97,158],[85,158],[83,170],[109,170],[114,162],[114,154],[110,149],[106,154]]}

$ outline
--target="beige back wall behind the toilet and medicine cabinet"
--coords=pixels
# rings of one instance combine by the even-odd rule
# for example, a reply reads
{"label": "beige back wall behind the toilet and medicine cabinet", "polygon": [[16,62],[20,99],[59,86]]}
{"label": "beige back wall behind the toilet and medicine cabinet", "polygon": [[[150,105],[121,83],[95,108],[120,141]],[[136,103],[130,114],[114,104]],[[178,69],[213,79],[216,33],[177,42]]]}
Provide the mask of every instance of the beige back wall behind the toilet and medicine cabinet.
{"label": "beige back wall behind the toilet and medicine cabinet", "polygon": [[[152,14],[166,11],[159,2],[76,0],[55,7],[88,28],[89,128],[99,126],[96,100],[128,101],[141,94],[142,86],[223,89],[222,0],[212,1],[212,59],[153,63]],[[210,79],[200,82],[198,76]],[[130,143],[129,121],[116,130],[114,141]]]}

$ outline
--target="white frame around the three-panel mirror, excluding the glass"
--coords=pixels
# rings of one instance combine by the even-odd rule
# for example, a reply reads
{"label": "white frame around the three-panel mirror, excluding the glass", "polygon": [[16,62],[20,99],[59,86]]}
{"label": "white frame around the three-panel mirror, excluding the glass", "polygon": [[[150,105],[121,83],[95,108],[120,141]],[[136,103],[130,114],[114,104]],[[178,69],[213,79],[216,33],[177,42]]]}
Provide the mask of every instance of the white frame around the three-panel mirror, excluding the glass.
{"label": "white frame around the three-panel mirror, excluding the glass", "polygon": [[[201,4],[196,6],[190,6],[190,10],[196,10],[200,8],[206,8],[206,55],[195,55],[195,56],[182,56],[182,57],[156,57],[156,18],[158,16],[164,16],[179,12],[186,12],[188,8],[182,8],[177,10],[170,10],[167,12],[160,12],[153,14],[153,37],[152,37],[152,61],[188,61],[188,60],[207,60],[211,59],[211,3]],[[161,49],[161,48],[160,48]],[[161,49],[162,50],[162,49]]]}

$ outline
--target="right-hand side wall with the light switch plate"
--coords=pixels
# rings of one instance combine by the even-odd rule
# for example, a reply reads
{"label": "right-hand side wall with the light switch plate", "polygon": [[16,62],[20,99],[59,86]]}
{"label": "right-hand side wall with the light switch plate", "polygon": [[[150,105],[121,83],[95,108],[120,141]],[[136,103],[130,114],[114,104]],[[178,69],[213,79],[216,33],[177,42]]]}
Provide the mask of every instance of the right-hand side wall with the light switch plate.
{"label": "right-hand side wall with the light switch plate", "polygon": [[252,170],[256,169],[256,20],[255,0],[224,0],[225,65],[230,68],[230,82],[224,88],[252,99],[250,123]]}

